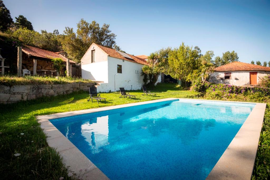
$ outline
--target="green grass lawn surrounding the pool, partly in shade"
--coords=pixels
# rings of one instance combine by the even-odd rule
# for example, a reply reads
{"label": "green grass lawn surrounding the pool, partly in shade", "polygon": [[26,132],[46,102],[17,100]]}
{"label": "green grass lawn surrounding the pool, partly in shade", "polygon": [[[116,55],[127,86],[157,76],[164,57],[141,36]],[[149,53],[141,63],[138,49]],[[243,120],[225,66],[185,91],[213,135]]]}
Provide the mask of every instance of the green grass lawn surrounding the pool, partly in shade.
{"label": "green grass lawn surrounding the pool, partly in shade", "polygon": [[[119,93],[102,93],[106,103],[87,102],[89,93],[78,92],[53,98],[42,98],[17,104],[0,105],[0,173],[2,179],[70,179],[59,155],[46,143],[46,137],[35,116],[196,95],[176,84],[158,84],[153,90],[157,97],[142,96],[141,91],[129,91],[136,99],[119,98]],[[203,99],[203,98],[202,98]],[[239,99],[237,99],[239,100]],[[243,99],[245,101],[245,99]],[[19,156],[15,156],[19,153]],[[252,179],[270,177],[270,108],[266,109],[258,154]]]}

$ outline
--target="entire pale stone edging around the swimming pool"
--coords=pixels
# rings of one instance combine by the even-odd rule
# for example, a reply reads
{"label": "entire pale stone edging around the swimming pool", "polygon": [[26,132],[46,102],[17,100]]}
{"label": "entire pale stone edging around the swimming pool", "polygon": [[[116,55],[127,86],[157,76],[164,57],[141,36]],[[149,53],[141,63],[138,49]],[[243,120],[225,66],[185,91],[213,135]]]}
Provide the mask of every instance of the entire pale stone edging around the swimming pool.
{"label": "entire pale stone edging around the swimming pool", "polygon": [[[63,157],[63,163],[79,174],[79,169],[87,168],[85,175],[90,179],[108,179],[108,177],[100,171],[75,145],[73,145],[49,120],[68,116],[76,116],[79,114],[87,114],[98,111],[106,111],[111,109],[137,106],[149,103],[156,103],[169,100],[203,100],[203,99],[183,99],[183,98],[167,98],[152,101],[144,101],[139,103],[129,103],[117,106],[107,106],[95,109],[86,109],[78,111],[70,111],[65,113],[56,113],[45,116],[38,116],[44,133],[48,136],[47,142],[50,147],[56,150]],[[203,100],[217,101],[217,100]],[[259,137],[261,133],[265,103],[248,103],[239,101],[218,101],[232,103],[256,104],[249,114],[230,145],[224,151],[217,164],[214,166],[207,179],[250,179],[254,167],[255,157],[258,148]]]}

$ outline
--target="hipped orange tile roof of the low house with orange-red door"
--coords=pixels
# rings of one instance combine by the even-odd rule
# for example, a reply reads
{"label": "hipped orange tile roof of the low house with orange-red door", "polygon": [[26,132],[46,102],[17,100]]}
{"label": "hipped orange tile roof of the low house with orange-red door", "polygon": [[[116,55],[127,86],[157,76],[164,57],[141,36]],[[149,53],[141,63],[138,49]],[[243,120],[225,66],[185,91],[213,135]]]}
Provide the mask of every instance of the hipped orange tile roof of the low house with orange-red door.
{"label": "hipped orange tile roof of the low house with orange-red door", "polygon": [[249,70],[262,70],[262,71],[270,71],[270,67],[259,66],[255,64],[242,63],[242,62],[232,62],[229,64],[225,64],[220,67],[216,67],[215,71],[249,71]]}

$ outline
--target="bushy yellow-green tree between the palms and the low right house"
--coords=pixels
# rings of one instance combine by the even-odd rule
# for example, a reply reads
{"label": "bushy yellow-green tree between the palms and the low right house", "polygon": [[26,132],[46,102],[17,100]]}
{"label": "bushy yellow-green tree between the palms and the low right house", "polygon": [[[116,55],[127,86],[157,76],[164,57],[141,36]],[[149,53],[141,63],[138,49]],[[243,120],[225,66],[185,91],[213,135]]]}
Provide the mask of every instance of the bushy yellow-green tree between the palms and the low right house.
{"label": "bushy yellow-green tree between the palms and the low right house", "polygon": [[181,86],[187,87],[190,84],[191,75],[199,69],[201,64],[199,55],[198,49],[193,49],[184,43],[169,53],[170,75],[175,79],[180,79]]}

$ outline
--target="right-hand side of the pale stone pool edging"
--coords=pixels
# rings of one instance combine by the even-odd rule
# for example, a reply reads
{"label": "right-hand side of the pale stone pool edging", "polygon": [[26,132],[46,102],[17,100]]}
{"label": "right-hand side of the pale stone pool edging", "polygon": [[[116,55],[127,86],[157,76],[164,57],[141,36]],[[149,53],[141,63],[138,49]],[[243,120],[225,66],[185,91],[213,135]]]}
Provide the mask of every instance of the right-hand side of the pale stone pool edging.
{"label": "right-hand side of the pale stone pool edging", "polygon": [[248,118],[206,179],[251,179],[266,108],[266,103],[254,104]]}

